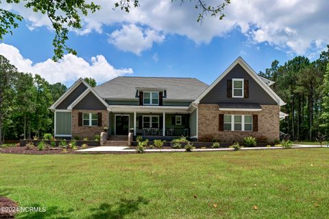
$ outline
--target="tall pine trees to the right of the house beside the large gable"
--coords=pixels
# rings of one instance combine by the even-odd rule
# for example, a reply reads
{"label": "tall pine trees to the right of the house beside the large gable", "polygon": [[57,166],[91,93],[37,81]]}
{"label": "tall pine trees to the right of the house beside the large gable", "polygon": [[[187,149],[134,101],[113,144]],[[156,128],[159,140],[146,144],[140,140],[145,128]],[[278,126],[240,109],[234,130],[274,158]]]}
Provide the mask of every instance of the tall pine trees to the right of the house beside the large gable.
{"label": "tall pine trees to the right of the house beside the large gable", "polygon": [[259,75],[276,82],[272,89],[286,102],[281,111],[289,114],[280,130],[298,141],[313,141],[329,135],[329,45],[319,58],[297,56],[283,65],[274,60]]}

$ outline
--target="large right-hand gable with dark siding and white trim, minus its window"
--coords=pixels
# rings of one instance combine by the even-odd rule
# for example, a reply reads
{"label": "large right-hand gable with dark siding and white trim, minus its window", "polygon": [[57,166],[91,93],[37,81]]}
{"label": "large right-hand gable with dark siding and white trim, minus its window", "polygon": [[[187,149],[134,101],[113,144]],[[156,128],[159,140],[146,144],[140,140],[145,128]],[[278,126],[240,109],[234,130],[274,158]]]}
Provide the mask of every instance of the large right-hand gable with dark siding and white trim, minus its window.
{"label": "large right-hand gable with dark siding and white trim, minus its window", "polygon": [[[245,78],[249,81],[248,98],[227,97],[228,78]],[[241,57],[237,58],[221,76],[194,101],[195,103],[218,103],[218,102],[256,102],[258,104],[277,104],[283,106],[284,101],[264,82],[257,73],[247,65]]]}

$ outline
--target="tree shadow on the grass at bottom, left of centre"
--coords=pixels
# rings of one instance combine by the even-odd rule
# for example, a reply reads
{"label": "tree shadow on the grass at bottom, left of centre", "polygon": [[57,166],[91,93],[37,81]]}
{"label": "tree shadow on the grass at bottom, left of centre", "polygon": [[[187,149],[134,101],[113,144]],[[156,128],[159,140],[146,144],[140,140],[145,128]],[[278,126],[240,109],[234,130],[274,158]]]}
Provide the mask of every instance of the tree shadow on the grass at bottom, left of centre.
{"label": "tree shadow on the grass at bottom, left of centre", "polygon": [[117,205],[101,203],[99,207],[90,209],[92,214],[87,219],[125,218],[125,216],[138,211],[141,205],[147,205],[148,203],[149,201],[141,196],[136,200],[121,198]]}

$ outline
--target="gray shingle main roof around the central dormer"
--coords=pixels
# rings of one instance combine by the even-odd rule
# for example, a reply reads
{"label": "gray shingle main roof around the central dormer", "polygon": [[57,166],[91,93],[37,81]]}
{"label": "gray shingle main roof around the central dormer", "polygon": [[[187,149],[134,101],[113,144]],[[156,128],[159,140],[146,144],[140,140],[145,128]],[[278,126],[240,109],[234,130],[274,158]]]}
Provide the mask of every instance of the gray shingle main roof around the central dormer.
{"label": "gray shingle main roof around the central dormer", "polygon": [[117,77],[95,91],[105,99],[136,99],[136,88],[164,88],[167,100],[195,100],[208,84],[196,78]]}

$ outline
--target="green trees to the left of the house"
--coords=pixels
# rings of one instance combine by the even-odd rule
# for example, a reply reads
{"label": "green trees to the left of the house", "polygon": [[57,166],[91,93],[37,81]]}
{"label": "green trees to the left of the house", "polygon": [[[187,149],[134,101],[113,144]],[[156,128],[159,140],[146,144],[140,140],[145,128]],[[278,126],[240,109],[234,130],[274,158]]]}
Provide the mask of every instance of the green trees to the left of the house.
{"label": "green trees to the left of the house", "polygon": [[[93,78],[84,78],[95,87]],[[32,139],[53,133],[53,112],[48,108],[67,87],[49,84],[38,74],[19,72],[0,55],[0,144],[4,139]]]}

